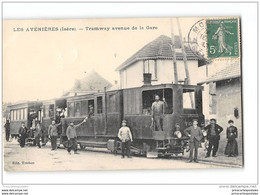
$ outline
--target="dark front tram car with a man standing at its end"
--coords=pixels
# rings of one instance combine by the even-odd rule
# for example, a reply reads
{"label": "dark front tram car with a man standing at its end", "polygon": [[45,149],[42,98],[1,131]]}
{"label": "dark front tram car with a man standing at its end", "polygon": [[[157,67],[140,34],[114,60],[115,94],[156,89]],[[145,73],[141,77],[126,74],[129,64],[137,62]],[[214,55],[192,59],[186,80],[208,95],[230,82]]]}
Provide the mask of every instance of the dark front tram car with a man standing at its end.
{"label": "dark front tram car with a man standing at its end", "polygon": [[[88,116],[87,122],[77,129],[82,149],[106,147],[120,153],[117,134],[125,119],[133,135],[132,153],[184,154],[189,138],[183,130],[192,125],[193,119],[198,119],[199,126],[204,124],[202,90],[202,86],[162,84],[68,97],[68,115],[61,120],[65,128],[70,122],[78,124]],[[155,95],[165,99],[168,105],[164,110],[162,131],[156,129],[151,117]],[[89,115],[91,107],[93,113]]]}

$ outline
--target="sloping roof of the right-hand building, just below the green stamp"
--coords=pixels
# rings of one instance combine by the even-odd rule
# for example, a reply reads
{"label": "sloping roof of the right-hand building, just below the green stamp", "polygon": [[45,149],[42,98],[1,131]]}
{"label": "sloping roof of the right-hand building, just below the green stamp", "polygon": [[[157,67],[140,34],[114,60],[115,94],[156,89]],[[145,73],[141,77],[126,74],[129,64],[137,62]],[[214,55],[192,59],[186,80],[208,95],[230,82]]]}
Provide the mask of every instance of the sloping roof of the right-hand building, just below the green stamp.
{"label": "sloping roof of the right-hand building, just below the green stamp", "polygon": [[225,67],[224,69],[216,72],[215,74],[207,78],[206,83],[237,78],[240,76],[241,76],[240,63],[239,61],[234,61],[229,66]]}

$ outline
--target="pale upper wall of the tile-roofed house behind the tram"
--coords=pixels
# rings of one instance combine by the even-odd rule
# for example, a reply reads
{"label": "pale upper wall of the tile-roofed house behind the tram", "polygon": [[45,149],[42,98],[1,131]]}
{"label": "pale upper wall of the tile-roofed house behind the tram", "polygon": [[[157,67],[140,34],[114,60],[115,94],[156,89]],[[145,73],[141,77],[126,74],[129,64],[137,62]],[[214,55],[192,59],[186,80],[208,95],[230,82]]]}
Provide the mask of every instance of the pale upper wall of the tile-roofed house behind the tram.
{"label": "pale upper wall of the tile-roofed house behind the tram", "polygon": [[[189,75],[191,84],[196,85],[198,82],[206,79],[206,69],[198,67],[197,60],[189,60]],[[177,60],[178,80],[186,78],[184,62]],[[140,87],[143,85],[143,61],[137,61],[125,70],[120,71],[121,88]],[[152,85],[174,82],[173,61],[157,60],[157,80],[152,80]]]}

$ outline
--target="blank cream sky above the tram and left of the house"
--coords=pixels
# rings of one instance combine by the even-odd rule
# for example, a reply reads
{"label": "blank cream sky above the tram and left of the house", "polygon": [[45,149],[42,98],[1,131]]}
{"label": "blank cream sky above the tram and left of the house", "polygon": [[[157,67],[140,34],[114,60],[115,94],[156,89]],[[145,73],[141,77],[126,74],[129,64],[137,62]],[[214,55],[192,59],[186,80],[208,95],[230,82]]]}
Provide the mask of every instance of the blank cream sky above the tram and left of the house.
{"label": "blank cream sky above the tram and left of the house", "polygon": [[[179,19],[184,37],[198,20]],[[174,34],[178,35],[176,19],[172,21]],[[131,30],[133,26],[137,30]],[[76,31],[31,31],[34,27],[69,27]],[[90,31],[86,27],[110,30]],[[75,79],[93,70],[111,83],[119,81],[115,69],[160,35],[171,36],[171,19],[4,20],[3,102],[60,97]]]}

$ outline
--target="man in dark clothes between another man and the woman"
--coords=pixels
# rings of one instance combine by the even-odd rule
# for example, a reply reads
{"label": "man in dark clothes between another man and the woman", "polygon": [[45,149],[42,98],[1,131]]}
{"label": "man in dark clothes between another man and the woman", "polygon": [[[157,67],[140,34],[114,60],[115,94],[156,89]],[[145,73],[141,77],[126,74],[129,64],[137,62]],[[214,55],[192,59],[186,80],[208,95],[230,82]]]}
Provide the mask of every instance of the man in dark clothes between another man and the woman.
{"label": "man in dark clothes between another man and the woman", "polygon": [[218,144],[220,140],[220,133],[223,131],[223,128],[216,124],[216,119],[210,119],[210,124],[204,128],[207,132],[207,139],[209,140],[208,152],[205,158],[210,156],[212,147],[213,147],[213,157],[216,157],[218,151]]}

